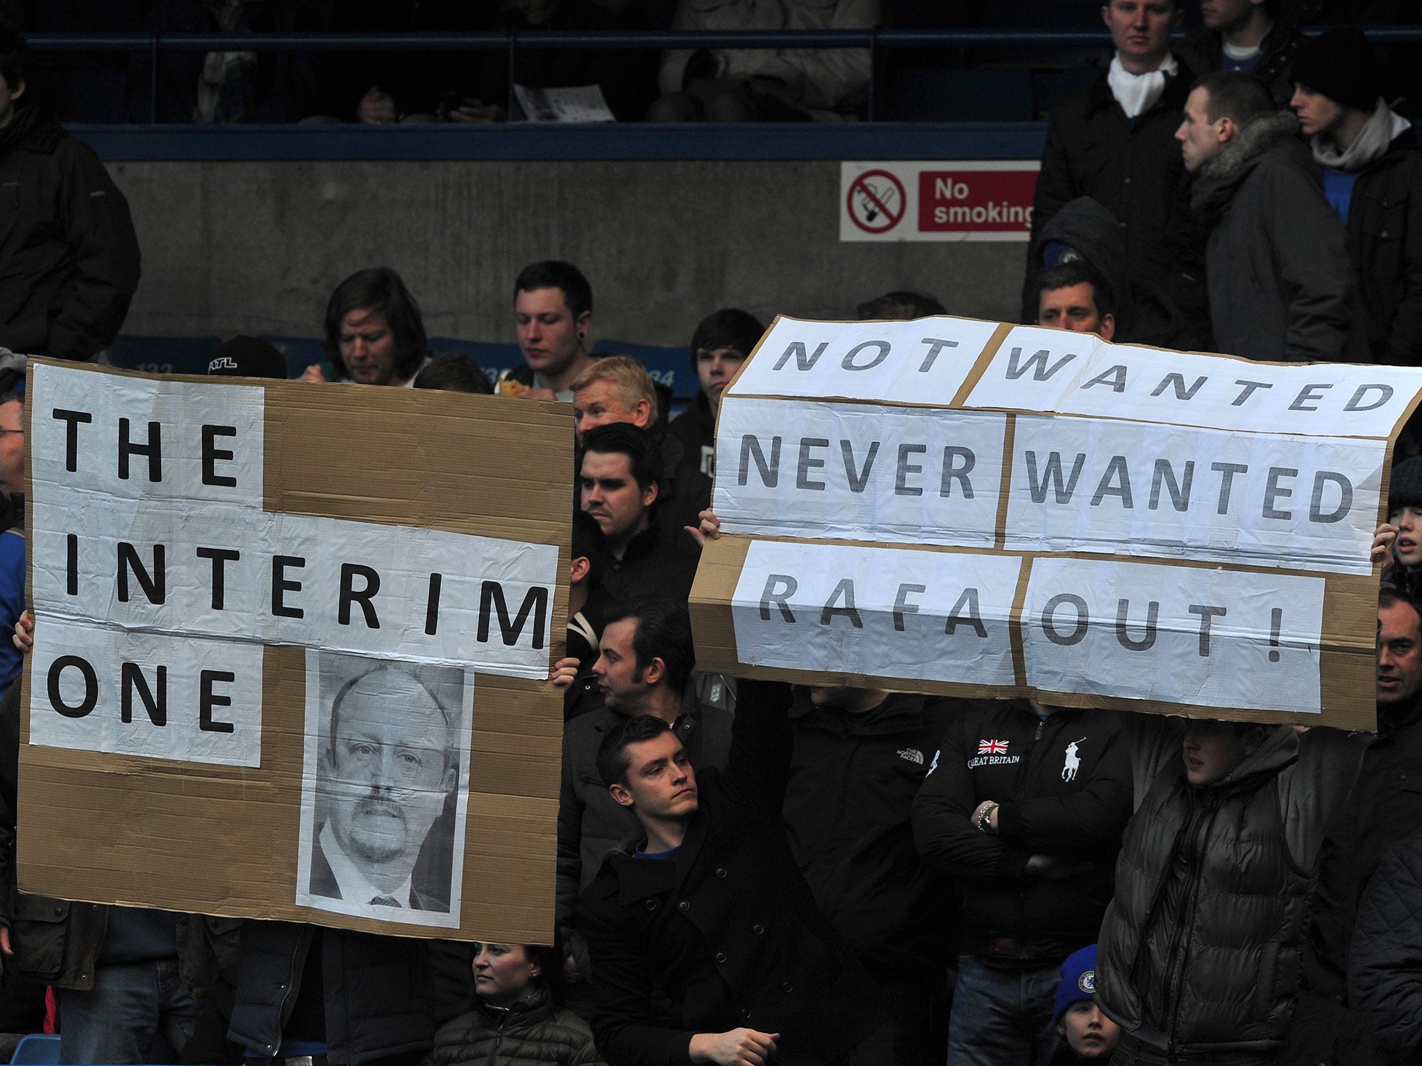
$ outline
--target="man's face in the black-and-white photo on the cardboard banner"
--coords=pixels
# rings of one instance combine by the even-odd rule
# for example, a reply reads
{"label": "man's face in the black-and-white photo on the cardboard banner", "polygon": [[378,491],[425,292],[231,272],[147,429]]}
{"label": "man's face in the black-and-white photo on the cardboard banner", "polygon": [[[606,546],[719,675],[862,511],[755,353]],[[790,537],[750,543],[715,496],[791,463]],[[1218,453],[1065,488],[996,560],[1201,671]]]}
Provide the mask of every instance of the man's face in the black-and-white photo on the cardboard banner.
{"label": "man's face in the black-and-white photo on the cardboard banner", "polygon": [[328,817],[341,850],[375,884],[410,877],[458,775],[449,723],[398,669],[360,678],[333,714],[323,752]]}

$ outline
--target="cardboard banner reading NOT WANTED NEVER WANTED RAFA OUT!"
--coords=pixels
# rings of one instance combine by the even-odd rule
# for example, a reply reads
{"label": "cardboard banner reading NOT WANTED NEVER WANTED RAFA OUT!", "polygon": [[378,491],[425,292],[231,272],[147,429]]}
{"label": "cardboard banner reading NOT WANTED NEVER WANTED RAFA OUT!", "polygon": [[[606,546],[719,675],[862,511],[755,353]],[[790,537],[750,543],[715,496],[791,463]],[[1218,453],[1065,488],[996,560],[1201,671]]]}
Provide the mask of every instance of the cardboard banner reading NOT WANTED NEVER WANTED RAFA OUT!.
{"label": "cardboard banner reading NOT WANTED NEVER WANTED RAFA OUT!", "polygon": [[1374,728],[1422,370],[776,318],[725,389],[698,665]]}

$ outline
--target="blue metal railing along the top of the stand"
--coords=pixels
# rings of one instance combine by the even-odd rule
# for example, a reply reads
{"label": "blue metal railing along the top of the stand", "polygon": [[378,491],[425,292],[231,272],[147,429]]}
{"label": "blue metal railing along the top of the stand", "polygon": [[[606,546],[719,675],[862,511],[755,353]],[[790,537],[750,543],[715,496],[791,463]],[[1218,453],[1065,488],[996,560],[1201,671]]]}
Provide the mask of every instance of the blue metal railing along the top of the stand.
{"label": "blue metal railing along the top of the stand", "polygon": [[[1322,33],[1328,27],[1308,27]],[[1422,26],[1368,26],[1368,40],[1391,44],[1422,43]],[[1030,48],[1103,45],[1105,30],[1012,28],[869,28],[869,30],[587,30],[587,31],[481,31],[481,33],[37,33],[27,38],[34,51],[146,51],[151,60],[149,121],[158,122],[158,60],[165,51],[506,51],[509,57],[509,111],[513,101],[513,67],[520,48]],[[870,64],[869,118],[873,119],[875,68]]]}

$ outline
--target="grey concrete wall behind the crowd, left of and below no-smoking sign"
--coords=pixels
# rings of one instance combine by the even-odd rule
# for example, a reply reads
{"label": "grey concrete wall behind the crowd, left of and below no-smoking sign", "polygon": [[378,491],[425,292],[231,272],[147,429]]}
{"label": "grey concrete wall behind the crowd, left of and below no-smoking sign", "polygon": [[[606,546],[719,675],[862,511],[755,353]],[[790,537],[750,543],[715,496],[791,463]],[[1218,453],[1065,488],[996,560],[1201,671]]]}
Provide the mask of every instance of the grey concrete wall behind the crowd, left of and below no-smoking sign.
{"label": "grey concrete wall behind the crowd, left of and below no-smoking sign", "polygon": [[593,338],[685,344],[739,306],[843,318],[890,289],[1011,318],[1025,246],[839,242],[839,163],[125,162],[144,279],[124,333],[316,337],[331,287],[388,264],[431,335],[512,340],[536,259],[593,283]]}

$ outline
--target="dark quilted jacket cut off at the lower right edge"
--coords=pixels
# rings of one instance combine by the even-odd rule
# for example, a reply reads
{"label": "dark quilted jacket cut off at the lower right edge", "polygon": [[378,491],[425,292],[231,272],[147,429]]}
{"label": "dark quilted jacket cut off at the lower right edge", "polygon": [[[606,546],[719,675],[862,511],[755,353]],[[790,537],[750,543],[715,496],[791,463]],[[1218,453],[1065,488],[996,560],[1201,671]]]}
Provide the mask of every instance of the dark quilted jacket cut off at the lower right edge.
{"label": "dark quilted jacket cut off at the lower right edge", "polygon": [[1422,1056],[1422,831],[1382,856],[1362,895],[1348,998],[1382,1045]]}

